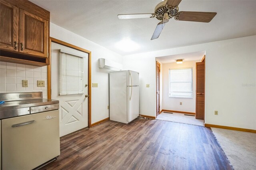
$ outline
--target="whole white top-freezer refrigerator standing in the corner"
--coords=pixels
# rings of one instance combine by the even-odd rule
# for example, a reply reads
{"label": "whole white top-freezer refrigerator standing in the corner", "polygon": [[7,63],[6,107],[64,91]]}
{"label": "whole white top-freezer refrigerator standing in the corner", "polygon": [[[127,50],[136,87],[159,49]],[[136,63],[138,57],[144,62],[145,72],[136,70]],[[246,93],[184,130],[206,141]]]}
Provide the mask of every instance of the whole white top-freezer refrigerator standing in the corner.
{"label": "whole white top-freezer refrigerator standing in the corner", "polygon": [[109,73],[110,120],[130,123],[139,116],[139,73],[131,70]]}

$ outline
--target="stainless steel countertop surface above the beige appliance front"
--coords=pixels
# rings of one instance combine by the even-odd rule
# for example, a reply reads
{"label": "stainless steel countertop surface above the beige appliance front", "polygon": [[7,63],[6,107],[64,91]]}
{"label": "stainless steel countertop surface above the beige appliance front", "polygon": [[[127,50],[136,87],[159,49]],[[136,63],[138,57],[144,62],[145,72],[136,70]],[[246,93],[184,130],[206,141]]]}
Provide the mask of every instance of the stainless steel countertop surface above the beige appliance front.
{"label": "stainless steel countertop surface above the beige appliance front", "polygon": [[9,109],[18,109],[23,107],[34,107],[41,105],[51,105],[59,103],[58,100],[50,99],[26,99],[18,101],[6,101],[5,103],[0,104],[0,111],[9,110]]}

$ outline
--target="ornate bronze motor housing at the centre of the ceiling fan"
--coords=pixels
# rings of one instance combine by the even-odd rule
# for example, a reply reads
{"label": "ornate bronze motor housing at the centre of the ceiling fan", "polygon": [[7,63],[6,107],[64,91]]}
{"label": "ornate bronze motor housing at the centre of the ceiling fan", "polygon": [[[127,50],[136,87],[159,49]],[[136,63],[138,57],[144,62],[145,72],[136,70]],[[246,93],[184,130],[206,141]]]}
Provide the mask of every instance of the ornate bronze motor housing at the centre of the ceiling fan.
{"label": "ornate bronze motor housing at the centre of the ceiling fan", "polygon": [[160,2],[156,8],[155,8],[155,14],[156,14],[156,19],[158,20],[163,20],[164,18],[164,13],[168,13],[169,19],[176,16],[176,14],[178,13],[178,6],[176,7],[172,7],[172,6],[168,6],[166,4],[166,1],[164,2]]}

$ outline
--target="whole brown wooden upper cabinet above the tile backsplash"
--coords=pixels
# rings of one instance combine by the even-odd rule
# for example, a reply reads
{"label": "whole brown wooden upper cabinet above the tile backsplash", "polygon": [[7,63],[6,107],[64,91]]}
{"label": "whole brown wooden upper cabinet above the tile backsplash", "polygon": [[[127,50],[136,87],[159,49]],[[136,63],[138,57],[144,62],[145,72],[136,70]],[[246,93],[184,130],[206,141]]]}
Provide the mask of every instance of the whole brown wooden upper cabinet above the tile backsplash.
{"label": "whole brown wooden upper cabinet above the tile backsplash", "polygon": [[50,12],[28,0],[0,0],[0,60],[48,65]]}

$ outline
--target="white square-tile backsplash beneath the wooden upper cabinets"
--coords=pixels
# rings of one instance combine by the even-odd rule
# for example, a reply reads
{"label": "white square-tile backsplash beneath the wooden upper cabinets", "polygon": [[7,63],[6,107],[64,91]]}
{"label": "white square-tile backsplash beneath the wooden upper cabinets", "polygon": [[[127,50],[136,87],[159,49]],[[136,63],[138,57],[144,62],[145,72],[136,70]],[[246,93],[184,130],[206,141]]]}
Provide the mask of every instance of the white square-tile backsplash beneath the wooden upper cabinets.
{"label": "white square-tile backsplash beneath the wooden upper cabinets", "polygon": [[[28,80],[28,87],[22,87],[22,80]],[[38,80],[44,80],[45,87],[37,87]],[[47,98],[47,84],[47,66],[0,61],[0,93],[42,91]]]}

